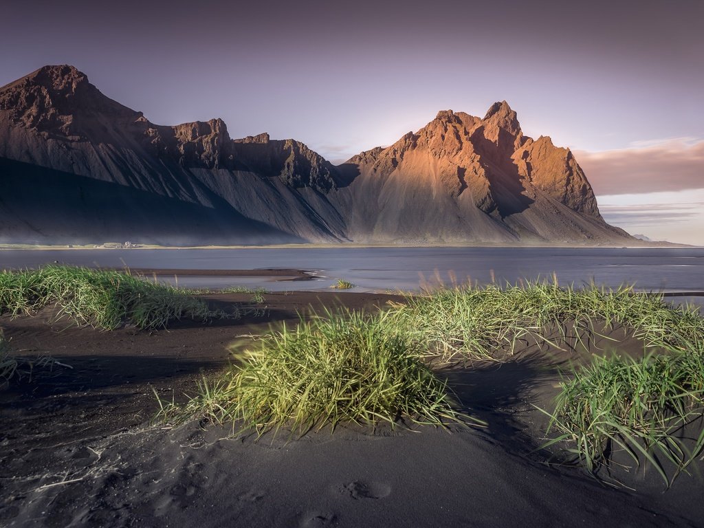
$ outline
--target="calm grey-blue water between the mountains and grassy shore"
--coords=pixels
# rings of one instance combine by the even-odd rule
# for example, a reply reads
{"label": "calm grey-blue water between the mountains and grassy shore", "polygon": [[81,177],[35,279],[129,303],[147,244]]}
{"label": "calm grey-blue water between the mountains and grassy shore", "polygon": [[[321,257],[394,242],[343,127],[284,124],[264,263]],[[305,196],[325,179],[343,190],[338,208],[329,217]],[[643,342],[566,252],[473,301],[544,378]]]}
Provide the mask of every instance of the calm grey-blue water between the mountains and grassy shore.
{"label": "calm grey-blue water between the mountains and grassy shore", "polygon": [[[2,250],[0,268],[34,267],[54,261],[105,268],[248,270],[295,268],[324,277],[275,282],[265,277],[180,277],[188,287],[246,285],[271,291],[325,289],[338,278],[356,291],[419,289],[467,277],[480,284],[551,277],[562,284],[618,286],[646,291],[704,291],[704,249],[598,248],[294,248],[294,249],[103,249]],[[172,280],[173,282],[173,280]]]}

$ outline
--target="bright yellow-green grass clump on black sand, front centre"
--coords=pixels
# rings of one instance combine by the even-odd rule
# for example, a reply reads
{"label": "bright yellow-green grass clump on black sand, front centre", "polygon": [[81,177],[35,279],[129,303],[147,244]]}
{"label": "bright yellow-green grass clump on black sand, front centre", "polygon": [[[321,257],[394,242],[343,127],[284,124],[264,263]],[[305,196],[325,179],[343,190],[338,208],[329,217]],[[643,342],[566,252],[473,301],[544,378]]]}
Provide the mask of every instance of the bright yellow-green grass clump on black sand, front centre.
{"label": "bright yellow-green grass clump on black sand, front centre", "polygon": [[446,384],[384,314],[355,312],[270,334],[219,382],[204,382],[182,411],[218,422],[241,420],[260,432],[334,429],[340,422],[394,425],[402,416],[441,425],[457,417]]}

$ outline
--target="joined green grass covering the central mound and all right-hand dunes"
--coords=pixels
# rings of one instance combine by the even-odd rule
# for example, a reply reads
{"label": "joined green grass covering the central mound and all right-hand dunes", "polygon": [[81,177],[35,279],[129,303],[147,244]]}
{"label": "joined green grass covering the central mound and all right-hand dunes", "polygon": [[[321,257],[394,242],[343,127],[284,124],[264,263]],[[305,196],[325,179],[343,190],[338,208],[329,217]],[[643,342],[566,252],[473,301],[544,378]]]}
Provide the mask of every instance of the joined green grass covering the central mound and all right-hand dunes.
{"label": "joined green grass covering the central mound and all right-hand dunes", "polygon": [[[552,282],[470,285],[407,296],[377,315],[346,312],[273,332],[182,408],[259,431],[340,422],[393,424],[401,416],[439,425],[458,417],[429,358],[501,360],[546,328],[624,327],[643,342],[639,358],[598,358],[567,375],[555,400],[546,446],[567,442],[591,472],[627,453],[666,482],[704,451],[691,434],[704,413],[704,318],[632,287],[583,289]],[[561,330],[564,331],[564,330]],[[579,335],[579,332],[577,332]],[[563,336],[564,337],[564,336]],[[543,339],[543,341],[541,341]],[[696,429],[696,427],[694,427]],[[674,478],[673,476],[673,478]]]}

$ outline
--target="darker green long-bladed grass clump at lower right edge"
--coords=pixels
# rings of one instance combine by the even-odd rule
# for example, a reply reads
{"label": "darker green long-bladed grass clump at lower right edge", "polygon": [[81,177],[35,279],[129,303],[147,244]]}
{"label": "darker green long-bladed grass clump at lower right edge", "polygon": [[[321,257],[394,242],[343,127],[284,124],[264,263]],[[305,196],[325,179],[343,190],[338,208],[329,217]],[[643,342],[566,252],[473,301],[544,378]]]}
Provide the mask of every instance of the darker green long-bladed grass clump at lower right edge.
{"label": "darker green long-bladed grass clump at lower right edge", "polygon": [[704,448],[704,430],[689,443],[679,437],[704,413],[702,348],[700,341],[638,359],[595,356],[561,384],[549,425],[560,436],[548,445],[571,441],[592,472],[624,451],[636,465],[648,460],[669,484],[660,460],[674,465],[674,479]]}

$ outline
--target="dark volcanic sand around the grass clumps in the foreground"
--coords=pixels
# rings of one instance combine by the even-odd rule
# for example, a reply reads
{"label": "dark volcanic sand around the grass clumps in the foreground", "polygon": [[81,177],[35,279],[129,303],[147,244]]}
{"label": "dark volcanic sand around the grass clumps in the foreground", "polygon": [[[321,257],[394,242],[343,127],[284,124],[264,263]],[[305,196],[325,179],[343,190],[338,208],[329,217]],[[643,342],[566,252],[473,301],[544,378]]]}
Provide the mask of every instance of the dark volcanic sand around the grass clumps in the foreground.
{"label": "dark volcanic sand around the grass clumps in the foreground", "polygon": [[[207,296],[227,308],[247,294]],[[618,476],[612,489],[535,452],[544,427],[532,403],[549,406],[568,356],[524,353],[497,367],[448,369],[460,401],[484,429],[363,427],[292,439],[227,439],[231,429],[197,421],[150,428],[164,397],[191,392],[201,371],[227,364],[227,346],[273,321],[389,296],[267,294],[265,318],[180,322],[168,330],[101,332],[37,317],[0,318],[15,352],[46,351],[67,367],[0,392],[0,525],[11,527],[434,527],[702,526],[703,479],[672,489],[649,471]],[[592,344],[604,348],[605,341]],[[626,343],[628,347],[638,344]],[[584,360],[586,352],[570,358]],[[203,427],[201,427],[201,425]],[[699,465],[698,467],[701,467]]]}

